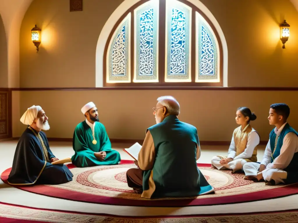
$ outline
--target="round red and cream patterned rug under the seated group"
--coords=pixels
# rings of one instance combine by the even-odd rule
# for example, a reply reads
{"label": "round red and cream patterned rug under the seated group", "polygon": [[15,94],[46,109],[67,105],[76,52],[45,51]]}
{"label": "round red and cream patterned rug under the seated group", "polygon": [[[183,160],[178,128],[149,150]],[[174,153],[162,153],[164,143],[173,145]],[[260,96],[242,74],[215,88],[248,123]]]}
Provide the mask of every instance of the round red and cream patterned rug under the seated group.
{"label": "round red and cream patterned rug under the seated group", "polygon": [[[219,205],[240,202],[266,200],[298,194],[298,184],[265,186],[264,182],[255,183],[243,180],[243,174],[231,171],[211,169],[210,164],[198,164],[201,172],[215,194],[206,194],[192,198],[162,198],[148,200],[136,194],[127,186],[126,171],[136,167],[133,161],[122,160],[120,165],[76,168],[67,165],[72,171],[73,181],[61,185],[21,186],[18,189],[57,197],[67,200],[91,202],[109,205],[148,206],[148,207],[184,207],[197,205]],[[11,168],[10,168],[11,169]],[[1,174],[1,180],[7,182],[10,169]],[[173,200],[175,200],[173,202]]]}

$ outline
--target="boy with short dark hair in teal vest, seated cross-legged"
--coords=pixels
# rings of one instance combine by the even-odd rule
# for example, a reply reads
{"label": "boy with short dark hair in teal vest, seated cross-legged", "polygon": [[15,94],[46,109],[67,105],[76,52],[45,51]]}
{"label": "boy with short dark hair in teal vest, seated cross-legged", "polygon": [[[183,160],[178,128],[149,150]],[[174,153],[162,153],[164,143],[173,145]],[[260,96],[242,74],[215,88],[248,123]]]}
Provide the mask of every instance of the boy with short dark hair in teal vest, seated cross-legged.
{"label": "boy with short dark hair in teal vest, seated cross-legged", "polygon": [[265,180],[266,185],[298,182],[298,133],[287,123],[289,114],[286,104],[270,106],[268,120],[275,128],[269,134],[262,162],[243,165],[245,180]]}

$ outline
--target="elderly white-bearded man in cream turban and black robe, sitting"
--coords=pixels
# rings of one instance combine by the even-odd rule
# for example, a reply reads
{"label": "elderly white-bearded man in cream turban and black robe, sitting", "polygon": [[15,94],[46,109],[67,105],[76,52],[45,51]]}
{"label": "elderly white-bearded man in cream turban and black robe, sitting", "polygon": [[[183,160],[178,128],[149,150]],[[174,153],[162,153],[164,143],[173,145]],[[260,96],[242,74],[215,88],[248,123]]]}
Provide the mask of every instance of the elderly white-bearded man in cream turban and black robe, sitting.
{"label": "elderly white-bearded man in cream turban and black robe, sitting", "polygon": [[61,184],[72,181],[72,172],[57,161],[49,148],[46,134],[48,117],[41,106],[31,106],[21,117],[28,128],[21,135],[13,158],[13,167],[8,177],[11,185]]}

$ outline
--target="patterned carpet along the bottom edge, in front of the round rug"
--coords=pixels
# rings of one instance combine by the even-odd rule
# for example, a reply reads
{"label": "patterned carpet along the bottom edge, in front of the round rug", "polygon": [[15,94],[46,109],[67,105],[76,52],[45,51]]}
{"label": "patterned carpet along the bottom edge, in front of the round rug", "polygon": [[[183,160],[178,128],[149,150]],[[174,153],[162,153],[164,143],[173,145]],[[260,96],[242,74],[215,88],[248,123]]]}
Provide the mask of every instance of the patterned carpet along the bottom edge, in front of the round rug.
{"label": "patterned carpet along the bottom edge, in front of the round rug", "polygon": [[19,207],[0,203],[1,223],[293,223],[298,222],[298,211],[279,213],[259,213],[247,215],[221,215],[221,216],[189,216],[170,218],[120,218],[110,216],[69,213],[62,211],[39,210],[34,208]]}

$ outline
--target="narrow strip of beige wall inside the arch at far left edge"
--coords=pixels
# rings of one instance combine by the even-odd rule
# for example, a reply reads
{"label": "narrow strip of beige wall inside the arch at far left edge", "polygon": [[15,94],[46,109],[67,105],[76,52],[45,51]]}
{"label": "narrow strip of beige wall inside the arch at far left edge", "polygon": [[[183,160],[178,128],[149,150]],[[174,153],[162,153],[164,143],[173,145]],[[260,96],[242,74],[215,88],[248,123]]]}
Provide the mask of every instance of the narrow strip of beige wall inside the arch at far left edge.
{"label": "narrow strip of beige wall inside the arch at far left edge", "polygon": [[0,87],[8,87],[7,44],[4,24],[0,15]]}

